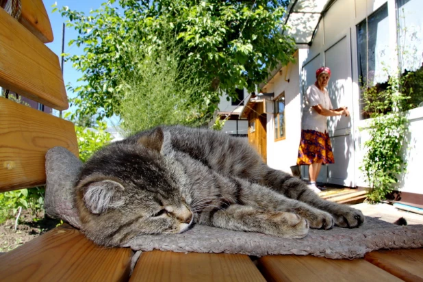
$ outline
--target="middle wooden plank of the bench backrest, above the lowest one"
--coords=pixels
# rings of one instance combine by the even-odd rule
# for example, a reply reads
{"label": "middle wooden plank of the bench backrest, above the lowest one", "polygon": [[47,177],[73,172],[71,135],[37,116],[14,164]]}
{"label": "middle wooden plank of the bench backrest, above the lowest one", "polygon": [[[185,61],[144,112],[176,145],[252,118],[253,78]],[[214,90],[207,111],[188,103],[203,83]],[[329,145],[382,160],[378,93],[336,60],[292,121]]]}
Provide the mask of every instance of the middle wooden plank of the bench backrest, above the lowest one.
{"label": "middle wooden plank of the bench backrest, above the lowest one", "polygon": [[0,86],[66,110],[68,99],[57,55],[3,9],[0,27]]}

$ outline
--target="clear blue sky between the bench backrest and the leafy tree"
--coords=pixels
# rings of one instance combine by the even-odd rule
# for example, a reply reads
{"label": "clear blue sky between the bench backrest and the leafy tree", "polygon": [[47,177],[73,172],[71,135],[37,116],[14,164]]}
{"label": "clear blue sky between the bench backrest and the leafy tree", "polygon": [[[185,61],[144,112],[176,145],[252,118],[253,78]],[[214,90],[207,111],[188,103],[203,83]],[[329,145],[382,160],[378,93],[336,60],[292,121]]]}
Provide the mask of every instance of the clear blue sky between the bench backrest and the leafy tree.
{"label": "clear blue sky between the bench backrest and the leafy tree", "polygon": [[[53,8],[51,7],[54,3],[57,3],[57,8],[68,6],[71,10],[77,10],[79,12],[90,13],[90,10],[96,10],[100,8],[101,3],[107,0],[43,0],[44,6],[49,14],[51,28],[53,29],[54,40],[51,43],[47,43],[47,47],[51,49],[56,55],[60,56],[62,53],[62,24],[66,22],[66,18],[62,18],[59,12],[52,13]],[[68,42],[71,39],[77,38],[78,33],[73,28],[65,28],[65,44],[64,53],[81,54],[81,49],[75,45],[69,47]],[[71,83],[73,86],[77,85],[77,79],[81,77],[81,73],[77,72],[73,67],[72,63],[68,62],[64,64],[64,83],[65,85]],[[75,97],[75,94],[68,91],[68,97]],[[72,109],[71,109],[72,110]]]}

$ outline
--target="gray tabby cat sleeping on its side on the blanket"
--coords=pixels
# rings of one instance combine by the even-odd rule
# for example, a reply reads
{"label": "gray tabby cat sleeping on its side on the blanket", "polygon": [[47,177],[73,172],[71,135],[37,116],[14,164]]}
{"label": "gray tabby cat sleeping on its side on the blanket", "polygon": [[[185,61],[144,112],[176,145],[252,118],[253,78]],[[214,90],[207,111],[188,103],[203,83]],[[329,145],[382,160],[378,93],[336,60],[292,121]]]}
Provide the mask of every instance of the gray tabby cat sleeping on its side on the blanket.
{"label": "gray tabby cat sleeping on its side on the blanket", "polygon": [[105,146],[84,164],[75,192],[82,231],[105,246],[181,233],[194,223],[303,238],[309,228],[364,221],[361,211],[268,167],[246,140],[181,126]]}

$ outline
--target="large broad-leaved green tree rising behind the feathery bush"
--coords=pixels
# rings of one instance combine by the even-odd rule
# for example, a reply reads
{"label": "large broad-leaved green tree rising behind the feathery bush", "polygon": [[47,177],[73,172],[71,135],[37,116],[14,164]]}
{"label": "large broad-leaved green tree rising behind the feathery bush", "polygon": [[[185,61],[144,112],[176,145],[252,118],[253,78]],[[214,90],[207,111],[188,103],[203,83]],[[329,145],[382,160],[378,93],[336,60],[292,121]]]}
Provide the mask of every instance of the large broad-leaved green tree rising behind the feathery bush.
{"label": "large broad-leaved green tree rising behind the feathery bush", "polygon": [[[118,5],[117,5],[118,4]],[[194,66],[192,76],[206,79],[209,90],[194,95],[198,104],[214,112],[222,91],[253,90],[268,69],[292,61],[294,42],[284,36],[281,18],[285,1],[110,0],[89,15],[60,9],[68,27],[79,32],[69,44],[84,54],[68,60],[83,73],[71,103],[77,116],[120,115],[125,98],[122,77],[133,71],[131,47],[159,48],[168,31],[182,48],[179,62]],[[151,81],[154,83],[154,81]]]}

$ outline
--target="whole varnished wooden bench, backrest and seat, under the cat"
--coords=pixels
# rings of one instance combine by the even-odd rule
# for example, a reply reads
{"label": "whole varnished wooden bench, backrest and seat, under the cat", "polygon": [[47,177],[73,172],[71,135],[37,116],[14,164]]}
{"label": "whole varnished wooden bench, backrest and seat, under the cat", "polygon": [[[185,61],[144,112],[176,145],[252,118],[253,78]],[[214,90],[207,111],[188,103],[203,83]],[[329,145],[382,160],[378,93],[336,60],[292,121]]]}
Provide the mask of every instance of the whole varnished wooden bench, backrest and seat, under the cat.
{"label": "whole varnished wooden bench, backrest and seat, under the cat", "polygon": [[[0,86],[65,110],[59,60],[43,43],[52,38],[44,5],[23,3],[25,21],[0,8]],[[78,155],[72,123],[0,98],[0,192],[44,184],[44,156],[53,146]],[[132,256],[129,248],[97,246],[64,224],[0,255],[0,281],[423,281],[422,249],[353,261],[151,251],[129,277]]]}

